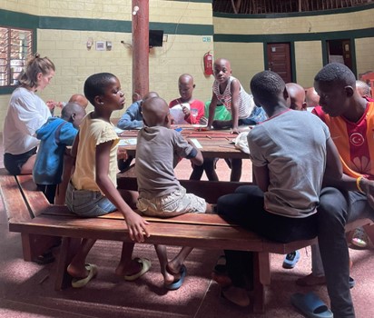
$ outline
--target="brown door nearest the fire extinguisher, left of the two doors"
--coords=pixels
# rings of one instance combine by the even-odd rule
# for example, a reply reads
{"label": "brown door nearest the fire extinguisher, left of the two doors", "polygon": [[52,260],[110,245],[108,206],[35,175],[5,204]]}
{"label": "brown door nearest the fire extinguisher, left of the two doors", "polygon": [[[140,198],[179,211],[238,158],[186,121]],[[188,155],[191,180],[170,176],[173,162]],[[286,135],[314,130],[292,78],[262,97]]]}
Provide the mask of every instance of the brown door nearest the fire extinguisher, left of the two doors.
{"label": "brown door nearest the fire extinguisher, left of the two doors", "polygon": [[268,70],[281,76],[284,83],[292,82],[290,43],[268,43]]}

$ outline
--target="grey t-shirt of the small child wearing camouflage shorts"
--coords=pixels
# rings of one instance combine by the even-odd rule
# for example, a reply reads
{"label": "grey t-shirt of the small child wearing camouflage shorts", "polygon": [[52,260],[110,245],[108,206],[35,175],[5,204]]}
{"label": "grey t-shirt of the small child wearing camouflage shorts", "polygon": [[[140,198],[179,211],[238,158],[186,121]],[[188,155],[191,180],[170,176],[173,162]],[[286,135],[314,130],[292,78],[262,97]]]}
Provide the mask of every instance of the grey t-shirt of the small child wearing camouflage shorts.
{"label": "grey t-shirt of the small child wearing camouflage shorts", "polygon": [[180,189],[174,166],[193,153],[182,134],[162,126],[139,131],[135,172],[139,194],[146,199],[171,194]]}

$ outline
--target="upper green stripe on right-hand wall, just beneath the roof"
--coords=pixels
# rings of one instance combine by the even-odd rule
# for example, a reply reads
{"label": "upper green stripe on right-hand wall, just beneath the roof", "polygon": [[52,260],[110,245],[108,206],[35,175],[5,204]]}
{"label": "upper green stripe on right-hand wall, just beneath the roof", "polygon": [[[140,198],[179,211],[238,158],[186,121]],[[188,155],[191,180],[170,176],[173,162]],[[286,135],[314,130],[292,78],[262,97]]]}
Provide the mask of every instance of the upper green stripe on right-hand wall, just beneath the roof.
{"label": "upper green stripe on right-hand wall, just beneath the roof", "polygon": [[291,12],[289,14],[235,15],[235,14],[224,14],[221,12],[213,12],[213,16],[224,17],[228,19],[278,19],[278,18],[296,17],[296,16],[339,15],[339,14],[347,14],[351,12],[369,10],[372,8],[374,8],[374,4],[351,6],[347,8],[331,9],[331,10]]}

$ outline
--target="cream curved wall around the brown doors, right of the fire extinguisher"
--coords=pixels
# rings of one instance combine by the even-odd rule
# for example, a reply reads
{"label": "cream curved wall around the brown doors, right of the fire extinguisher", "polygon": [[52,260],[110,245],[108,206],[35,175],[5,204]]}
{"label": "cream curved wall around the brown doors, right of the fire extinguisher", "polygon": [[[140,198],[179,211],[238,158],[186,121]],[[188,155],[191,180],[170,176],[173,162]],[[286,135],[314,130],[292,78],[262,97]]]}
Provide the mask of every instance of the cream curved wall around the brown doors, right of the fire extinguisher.
{"label": "cream curved wall around the brown doors, right of the fire extinguisher", "polygon": [[[292,35],[331,31],[348,31],[372,28],[374,9],[337,15],[312,15],[303,17],[284,17],[271,19],[231,19],[213,17],[216,35]],[[292,37],[292,36],[290,36]],[[374,70],[374,38],[356,39],[356,60],[358,74]],[[230,49],[234,47],[234,49]],[[254,55],[246,52],[254,50]],[[248,81],[248,75],[263,70],[262,43],[214,43],[215,56],[226,57],[231,61],[233,75]],[[247,58],[243,61],[242,55]],[[296,82],[310,87],[313,77],[322,64],[320,41],[295,41]],[[247,77],[246,77],[247,76]]]}

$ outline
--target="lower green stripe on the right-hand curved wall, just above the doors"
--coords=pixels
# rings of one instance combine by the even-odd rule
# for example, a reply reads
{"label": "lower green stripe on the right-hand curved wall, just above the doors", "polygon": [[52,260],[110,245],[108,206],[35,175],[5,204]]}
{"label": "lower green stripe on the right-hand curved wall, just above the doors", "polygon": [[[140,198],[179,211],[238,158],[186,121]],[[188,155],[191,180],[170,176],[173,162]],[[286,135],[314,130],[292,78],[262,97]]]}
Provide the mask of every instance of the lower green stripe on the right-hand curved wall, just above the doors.
{"label": "lower green stripe on the right-hand curved wall, just above the doors", "polygon": [[342,38],[374,37],[374,27],[349,31],[332,31],[318,33],[279,34],[279,35],[213,35],[214,42],[258,43],[258,42],[290,42],[320,41]]}

